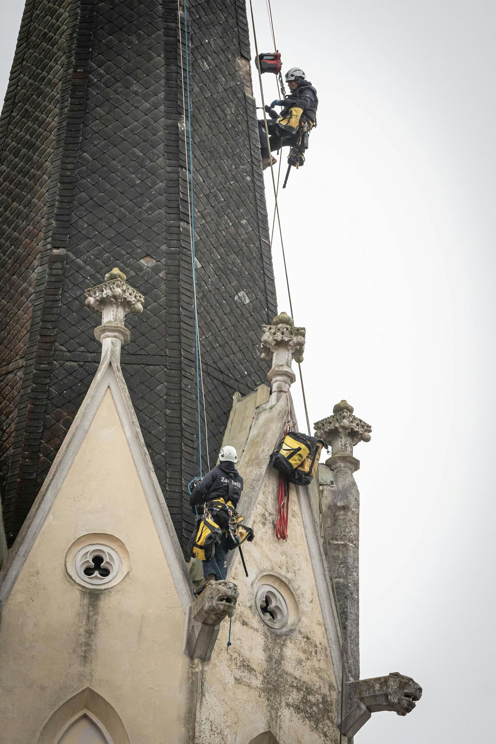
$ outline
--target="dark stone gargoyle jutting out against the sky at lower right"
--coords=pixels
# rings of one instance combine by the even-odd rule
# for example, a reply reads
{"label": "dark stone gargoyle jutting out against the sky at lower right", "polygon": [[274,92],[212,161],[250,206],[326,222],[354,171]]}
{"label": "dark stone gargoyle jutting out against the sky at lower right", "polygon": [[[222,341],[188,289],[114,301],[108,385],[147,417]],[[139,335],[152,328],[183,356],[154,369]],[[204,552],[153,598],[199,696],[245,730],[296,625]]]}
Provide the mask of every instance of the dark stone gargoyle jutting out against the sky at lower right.
{"label": "dark stone gargoyle jutting out against the sky at lower right", "polygon": [[422,697],[422,687],[411,677],[392,672],[387,677],[372,677],[345,685],[345,711],[341,730],[351,739],[372,713],[393,711],[406,716]]}

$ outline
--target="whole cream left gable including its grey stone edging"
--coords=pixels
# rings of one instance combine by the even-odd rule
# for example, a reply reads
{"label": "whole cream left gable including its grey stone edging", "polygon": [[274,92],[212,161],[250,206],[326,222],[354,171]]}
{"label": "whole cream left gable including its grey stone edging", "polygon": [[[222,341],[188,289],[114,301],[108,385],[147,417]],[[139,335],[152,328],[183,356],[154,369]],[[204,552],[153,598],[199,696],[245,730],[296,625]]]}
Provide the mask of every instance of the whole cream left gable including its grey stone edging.
{"label": "whole cream left gable including its grey stone edging", "polygon": [[[109,365],[95,379],[1,574],[0,699],[11,744],[37,741],[89,685],[130,740],[156,740],[165,727],[188,740],[182,638],[191,589],[118,374]],[[104,545],[104,570],[117,565],[108,586],[77,574],[87,545]]]}

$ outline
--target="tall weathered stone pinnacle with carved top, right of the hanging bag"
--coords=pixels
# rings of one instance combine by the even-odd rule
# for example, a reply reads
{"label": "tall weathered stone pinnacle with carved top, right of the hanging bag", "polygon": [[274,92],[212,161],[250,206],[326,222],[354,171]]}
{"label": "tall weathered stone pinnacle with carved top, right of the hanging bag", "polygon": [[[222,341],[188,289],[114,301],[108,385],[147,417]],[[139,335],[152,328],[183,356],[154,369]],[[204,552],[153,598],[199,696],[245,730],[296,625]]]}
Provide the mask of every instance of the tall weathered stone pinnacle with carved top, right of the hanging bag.
{"label": "tall weathered stone pinnacle with carved top, right of the hanging bag", "polygon": [[345,655],[352,679],[360,676],[359,533],[360,493],[353,473],[360,462],[353,446],[368,442],[372,427],[353,415],[353,407],[342,400],[333,415],[315,423],[317,437],[331,443],[332,455],[325,462],[334,474],[321,483],[322,510],[329,539],[336,586],[336,600],[343,625]]}

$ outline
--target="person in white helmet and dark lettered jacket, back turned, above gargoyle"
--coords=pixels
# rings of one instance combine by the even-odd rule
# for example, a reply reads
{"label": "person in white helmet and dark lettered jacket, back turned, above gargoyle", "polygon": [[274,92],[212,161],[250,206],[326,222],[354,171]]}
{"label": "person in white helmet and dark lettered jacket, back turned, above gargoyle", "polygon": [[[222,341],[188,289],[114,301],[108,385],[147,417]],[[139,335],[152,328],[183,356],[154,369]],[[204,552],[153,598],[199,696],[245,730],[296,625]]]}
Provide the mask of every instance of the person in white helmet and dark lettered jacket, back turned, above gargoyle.
{"label": "person in white helmet and dark lettered jacket, back turned, above gargoyle", "polygon": [[[204,578],[203,583],[197,589],[197,594],[205,589],[209,581],[226,578],[227,554],[229,550],[237,547],[237,544],[233,542],[232,534],[229,534],[229,521],[236,513],[235,510],[243,490],[243,478],[235,466],[237,462],[238,453],[235,448],[231,445],[223,446],[219,453],[219,464],[208,472],[191,492],[189,503],[199,518],[195,529],[199,529],[202,515],[208,515],[209,525],[213,522],[217,527],[212,557],[207,557],[207,555],[202,557]],[[249,527],[247,529],[249,530]],[[250,531],[252,533],[252,530]],[[248,539],[250,538],[252,539],[252,534]],[[192,541],[191,547],[194,545]]]}

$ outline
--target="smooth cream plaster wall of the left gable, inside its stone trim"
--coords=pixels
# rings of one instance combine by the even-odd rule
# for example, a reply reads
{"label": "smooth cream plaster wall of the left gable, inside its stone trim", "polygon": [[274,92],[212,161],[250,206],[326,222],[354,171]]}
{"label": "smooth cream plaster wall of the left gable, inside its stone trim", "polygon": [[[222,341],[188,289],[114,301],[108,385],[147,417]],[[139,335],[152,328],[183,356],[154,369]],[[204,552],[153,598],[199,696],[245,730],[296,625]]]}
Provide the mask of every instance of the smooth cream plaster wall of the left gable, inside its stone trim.
{"label": "smooth cream plaster wall of the left gable, inside its stone trim", "polygon": [[[86,533],[112,534],[129,551],[130,571],[111,589],[85,589],[66,572],[66,551]],[[91,687],[131,742],[189,743],[183,632],[177,590],[107,389],[4,605],[2,740],[36,743],[54,711]]]}

